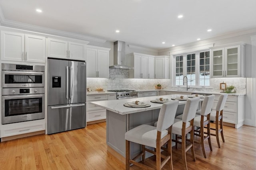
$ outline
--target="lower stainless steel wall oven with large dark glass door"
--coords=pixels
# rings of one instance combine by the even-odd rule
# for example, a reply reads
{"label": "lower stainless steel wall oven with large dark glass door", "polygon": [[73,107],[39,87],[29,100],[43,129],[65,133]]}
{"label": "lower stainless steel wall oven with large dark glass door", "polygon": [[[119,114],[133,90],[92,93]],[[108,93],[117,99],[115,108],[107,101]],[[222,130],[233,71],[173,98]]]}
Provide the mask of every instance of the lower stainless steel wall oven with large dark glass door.
{"label": "lower stainless steel wall oven with large dark glass door", "polygon": [[2,124],[44,119],[44,88],[3,88]]}

